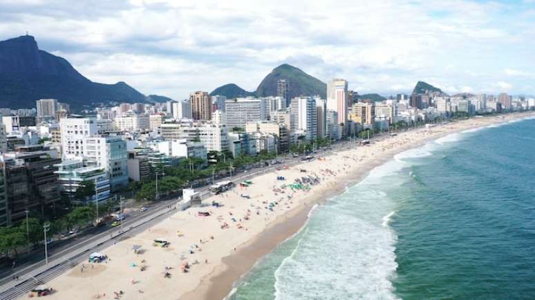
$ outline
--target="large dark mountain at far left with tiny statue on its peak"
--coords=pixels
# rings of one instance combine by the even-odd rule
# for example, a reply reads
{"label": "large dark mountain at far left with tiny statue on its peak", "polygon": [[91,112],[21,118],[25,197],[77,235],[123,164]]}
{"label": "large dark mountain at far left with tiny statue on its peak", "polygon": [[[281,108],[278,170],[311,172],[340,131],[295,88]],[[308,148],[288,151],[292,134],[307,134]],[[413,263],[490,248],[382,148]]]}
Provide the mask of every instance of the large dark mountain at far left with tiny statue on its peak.
{"label": "large dark mountain at far left with tiny statue on its peak", "polygon": [[93,82],[71,63],[39,50],[34,37],[25,35],[0,41],[1,107],[33,108],[35,100],[53,98],[73,110],[91,103],[144,102],[144,94],[124,82]]}

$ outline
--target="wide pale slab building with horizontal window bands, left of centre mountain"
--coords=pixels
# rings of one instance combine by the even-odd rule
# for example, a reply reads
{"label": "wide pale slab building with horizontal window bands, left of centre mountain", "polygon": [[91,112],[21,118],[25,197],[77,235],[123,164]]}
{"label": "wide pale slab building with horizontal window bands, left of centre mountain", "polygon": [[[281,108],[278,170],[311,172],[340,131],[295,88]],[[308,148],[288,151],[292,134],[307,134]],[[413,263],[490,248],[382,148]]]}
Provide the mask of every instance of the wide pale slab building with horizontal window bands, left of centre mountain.
{"label": "wide pale slab building with horizontal window bands, left of centre mountain", "polygon": [[245,128],[248,122],[268,119],[265,99],[238,98],[225,101],[227,127]]}

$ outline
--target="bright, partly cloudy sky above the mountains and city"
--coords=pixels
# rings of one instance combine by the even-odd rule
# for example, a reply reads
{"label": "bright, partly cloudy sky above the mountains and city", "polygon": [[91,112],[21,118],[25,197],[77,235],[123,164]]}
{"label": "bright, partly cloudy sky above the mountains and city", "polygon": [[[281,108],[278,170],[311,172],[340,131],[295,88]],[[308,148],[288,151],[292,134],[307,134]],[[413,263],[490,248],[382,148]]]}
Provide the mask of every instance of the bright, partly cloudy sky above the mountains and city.
{"label": "bright, partly cloudy sky above the mountains and city", "polygon": [[360,94],[535,94],[535,0],[0,0],[0,40],[26,32],[92,81],[173,99],[256,90],[281,63]]}

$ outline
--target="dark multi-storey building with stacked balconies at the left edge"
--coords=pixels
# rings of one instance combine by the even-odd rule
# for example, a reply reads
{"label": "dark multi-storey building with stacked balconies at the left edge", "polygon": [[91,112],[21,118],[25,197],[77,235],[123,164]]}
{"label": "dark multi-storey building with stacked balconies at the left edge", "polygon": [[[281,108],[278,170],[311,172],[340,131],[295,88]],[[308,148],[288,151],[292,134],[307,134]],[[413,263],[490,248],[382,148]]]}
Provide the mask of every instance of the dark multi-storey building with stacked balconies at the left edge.
{"label": "dark multi-storey building with stacked balconies at the left edge", "polygon": [[0,156],[0,170],[4,176],[8,225],[26,217],[26,210],[39,212],[55,210],[60,201],[60,186],[53,159],[46,152],[20,152]]}

